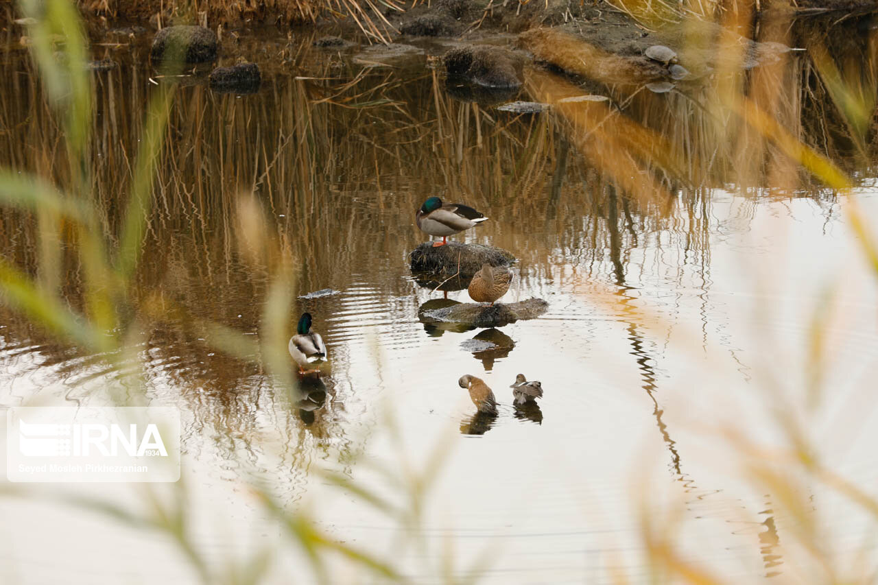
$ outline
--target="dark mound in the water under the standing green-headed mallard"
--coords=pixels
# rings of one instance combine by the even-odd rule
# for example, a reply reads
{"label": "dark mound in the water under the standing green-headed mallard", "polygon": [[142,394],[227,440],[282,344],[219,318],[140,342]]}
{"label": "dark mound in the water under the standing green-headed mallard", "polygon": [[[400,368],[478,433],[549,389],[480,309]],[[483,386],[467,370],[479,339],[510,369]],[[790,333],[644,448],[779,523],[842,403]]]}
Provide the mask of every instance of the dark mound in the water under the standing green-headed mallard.
{"label": "dark mound in the water under the standing green-headed mallard", "polygon": [[429,275],[449,278],[457,275],[467,281],[481,269],[482,264],[508,266],[515,262],[515,256],[505,249],[459,242],[449,242],[435,248],[431,242],[423,242],[408,256],[416,277]]}

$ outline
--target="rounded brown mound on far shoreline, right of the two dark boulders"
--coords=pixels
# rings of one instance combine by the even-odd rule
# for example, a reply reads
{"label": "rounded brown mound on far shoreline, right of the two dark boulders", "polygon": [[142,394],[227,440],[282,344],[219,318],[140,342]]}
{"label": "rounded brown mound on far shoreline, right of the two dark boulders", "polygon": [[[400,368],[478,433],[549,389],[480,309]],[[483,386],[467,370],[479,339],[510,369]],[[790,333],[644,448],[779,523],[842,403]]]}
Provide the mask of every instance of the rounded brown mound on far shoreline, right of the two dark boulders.
{"label": "rounded brown mound on far shoreline, right of the two dark boulders", "polygon": [[462,77],[483,87],[508,89],[522,86],[518,76],[522,60],[503,47],[453,48],[443,56],[443,63],[449,76]]}

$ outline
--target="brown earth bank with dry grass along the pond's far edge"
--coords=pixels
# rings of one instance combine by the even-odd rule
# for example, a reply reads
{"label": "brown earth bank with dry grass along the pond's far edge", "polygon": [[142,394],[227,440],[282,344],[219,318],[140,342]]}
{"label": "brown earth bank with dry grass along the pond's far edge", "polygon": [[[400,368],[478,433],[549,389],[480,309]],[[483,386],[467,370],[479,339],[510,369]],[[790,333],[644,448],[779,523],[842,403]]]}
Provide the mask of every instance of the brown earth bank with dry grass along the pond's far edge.
{"label": "brown earth bank with dry grass along the pond's far edge", "polygon": [[[703,13],[704,4],[699,4],[702,13],[698,14],[658,0],[649,4],[648,12],[638,11],[641,4],[626,4],[625,0],[535,0],[526,4],[517,0],[432,0],[414,5],[392,0],[380,4],[371,0],[236,0],[200,5],[89,0],[79,5],[95,41],[111,35],[118,39],[123,34],[147,42],[169,25],[205,25],[217,33],[224,57],[234,56],[234,42],[239,38],[258,37],[258,31],[267,25],[281,35],[285,32],[291,40],[305,29],[326,32],[315,45],[330,51],[378,46],[369,49],[374,53],[365,54],[366,63],[411,58],[421,49],[410,42],[435,38],[443,40],[436,53],[445,54],[450,76],[462,76],[472,86],[455,84],[450,90],[475,92],[465,96],[473,101],[485,99],[478,95],[485,88],[492,95],[503,88],[517,88],[522,82],[522,62],[531,60],[574,76],[579,83],[589,78],[609,83],[655,83],[650,89],[660,92],[672,87],[671,82],[698,79],[715,69],[751,69],[776,59],[795,47],[795,34],[790,35],[784,27],[797,14],[831,12],[836,20],[859,18],[864,21],[860,27],[871,30],[870,12],[876,8],[874,2],[860,0],[752,0],[752,4],[722,0],[706,4],[710,15]],[[8,26],[14,29],[15,18],[22,15],[8,3],[5,11],[11,21]],[[773,26],[778,33],[766,35]],[[26,34],[25,25],[19,27]],[[762,31],[760,40],[768,43],[750,40],[757,37],[758,30]],[[479,47],[485,42],[513,45],[519,50],[492,52]],[[475,45],[458,48],[455,43]],[[740,52],[717,51],[721,43],[743,48]],[[673,60],[650,58],[646,52],[656,45],[670,47]],[[449,47],[456,52],[454,59],[449,58]],[[281,55],[279,61],[285,59]]]}

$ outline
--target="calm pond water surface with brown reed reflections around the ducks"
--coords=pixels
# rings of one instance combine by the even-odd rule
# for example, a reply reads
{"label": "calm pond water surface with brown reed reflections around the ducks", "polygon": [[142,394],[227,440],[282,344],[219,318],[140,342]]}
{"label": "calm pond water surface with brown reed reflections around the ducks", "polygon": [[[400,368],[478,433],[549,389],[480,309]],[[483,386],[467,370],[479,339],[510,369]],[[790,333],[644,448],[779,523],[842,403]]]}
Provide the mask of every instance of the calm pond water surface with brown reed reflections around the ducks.
{"label": "calm pond water surface with brown reed reflections around the ducks", "polygon": [[[802,579],[783,546],[795,547],[811,520],[775,513],[786,495],[754,488],[723,430],[782,445],[777,413],[787,413],[834,471],[874,487],[878,315],[847,199],[818,189],[766,141],[723,134],[734,125],[708,119],[702,104],[713,94],[697,85],[652,94],[594,82],[589,92],[611,97],[598,103],[604,110],[515,117],[449,88],[428,67],[443,46],[393,60],[368,53],[366,61],[390,65],[371,67],[356,49],[320,52],[310,41],[241,41],[236,50],[263,66],[254,95],[177,88],[156,174],[136,278],[138,301],[166,312],[139,313],[130,366],[145,370],[151,403],[183,412],[187,509],[205,555],[221,565],[283,541],[249,491],[255,481],[311,510],[335,537],[392,553],[416,582],[432,582],[445,554],[450,574],[488,582],[646,580],[643,505],[657,510],[657,530],[677,538],[684,560],[728,581]],[[119,225],[155,91],[143,50],[95,54],[121,63],[93,77],[92,171],[108,231]],[[0,156],[62,182],[60,131],[32,66],[17,47],[4,60]],[[773,67],[799,82],[814,75],[805,56]],[[525,76],[510,98],[577,91],[541,70]],[[781,93],[800,90],[793,83]],[[779,116],[796,120],[788,129],[817,140],[813,104],[784,96]],[[626,142],[621,119],[651,128],[668,149]],[[582,125],[591,134],[577,134]],[[875,217],[869,162],[823,146],[859,173],[852,197]],[[419,319],[419,307],[443,297],[417,285],[407,264],[425,239],[414,212],[431,194],[491,218],[455,239],[515,254],[504,300],[542,298],[546,314],[488,332]],[[33,220],[0,212],[4,257],[34,271],[36,238]],[[207,322],[258,338],[284,260],[297,297],[337,292],[268,316],[291,328],[307,310],[324,335],[332,373],[306,396],[279,386],[260,356],[229,358],[206,341]],[[76,306],[79,267],[72,254],[64,263]],[[465,291],[448,298],[469,300]],[[810,327],[830,304],[822,392],[808,409]],[[473,338],[498,347],[473,352]],[[101,404],[108,387],[130,383],[124,368],[55,343],[5,308],[0,363],[3,406]],[[519,372],[543,383],[534,411],[511,406]],[[496,420],[473,416],[457,386],[464,373],[493,387]],[[416,528],[426,549],[400,542],[398,524],[309,473],[337,469],[399,501],[378,470],[405,477],[436,453],[441,472]],[[814,489],[802,498],[826,545],[839,558],[857,553],[861,513]],[[82,491],[142,506],[137,489]],[[44,492],[54,493],[34,488]],[[40,499],[0,507],[4,582],[195,579],[152,532]],[[297,562],[285,554],[270,582],[310,579]]]}

